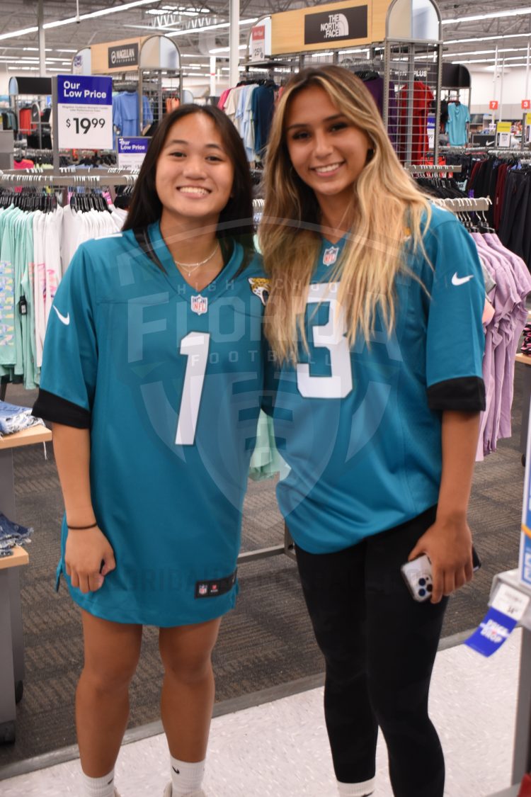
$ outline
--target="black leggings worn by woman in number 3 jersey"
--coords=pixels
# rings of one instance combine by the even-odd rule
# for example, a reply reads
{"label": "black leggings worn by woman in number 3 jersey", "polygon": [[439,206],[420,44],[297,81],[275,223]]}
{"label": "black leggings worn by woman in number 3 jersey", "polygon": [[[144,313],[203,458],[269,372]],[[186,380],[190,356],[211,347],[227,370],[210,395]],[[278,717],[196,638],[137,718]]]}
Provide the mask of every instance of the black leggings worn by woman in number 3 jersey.
{"label": "black leggings worn by woman in number 3 jersey", "polygon": [[375,774],[378,726],[396,797],[443,797],[444,759],[428,717],[431,670],[447,599],[412,599],[400,565],[435,507],[332,554],[297,548],[306,606],[326,660],[325,718],[336,777]]}

